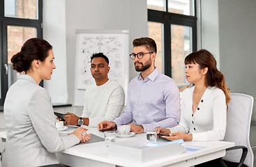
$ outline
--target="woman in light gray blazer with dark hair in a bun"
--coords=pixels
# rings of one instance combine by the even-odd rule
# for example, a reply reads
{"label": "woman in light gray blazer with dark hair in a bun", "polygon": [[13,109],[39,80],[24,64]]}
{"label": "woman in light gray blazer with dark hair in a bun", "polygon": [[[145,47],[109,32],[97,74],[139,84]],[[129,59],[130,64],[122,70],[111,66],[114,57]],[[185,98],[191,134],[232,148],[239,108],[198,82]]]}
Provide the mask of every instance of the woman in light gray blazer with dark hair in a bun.
{"label": "woman in light gray blazer with dark hair in a bun", "polygon": [[59,136],[50,96],[38,84],[51,79],[55,69],[52,45],[31,38],[11,58],[13,69],[22,72],[6,95],[3,106],[7,141],[2,166],[45,166],[58,164],[54,152],[88,141],[87,129],[77,128],[68,136]]}

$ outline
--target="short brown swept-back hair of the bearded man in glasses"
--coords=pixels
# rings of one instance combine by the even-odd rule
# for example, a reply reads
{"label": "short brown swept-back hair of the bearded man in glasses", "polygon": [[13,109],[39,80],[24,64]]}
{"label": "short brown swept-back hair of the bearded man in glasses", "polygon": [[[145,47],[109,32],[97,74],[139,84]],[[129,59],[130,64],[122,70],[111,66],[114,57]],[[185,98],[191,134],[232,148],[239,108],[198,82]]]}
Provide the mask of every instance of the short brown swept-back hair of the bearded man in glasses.
{"label": "short brown swept-back hair of the bearded man in glasses", "polygon": [[156,52],[156,42],[152,38],[144,37],[133,40],[133,47],[146,46],[150,51]]}

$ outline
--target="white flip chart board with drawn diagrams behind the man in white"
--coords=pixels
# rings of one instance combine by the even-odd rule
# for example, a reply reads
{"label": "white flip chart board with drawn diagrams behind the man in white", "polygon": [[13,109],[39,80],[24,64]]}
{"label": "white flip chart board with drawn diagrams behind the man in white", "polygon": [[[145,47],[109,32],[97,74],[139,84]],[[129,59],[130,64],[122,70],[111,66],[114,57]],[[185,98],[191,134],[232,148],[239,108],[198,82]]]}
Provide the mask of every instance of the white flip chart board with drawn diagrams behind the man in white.
{"label": "white flip chart board with drawn diagrams behind the man in white", "polygon": [[117,81],[127,92],[129,79],[128,31],[76,30],[77,65],[74,106],[83,106],[86,88],[95,84],[91,76],[91,55],[102,52],[110,60],[109,79]]}

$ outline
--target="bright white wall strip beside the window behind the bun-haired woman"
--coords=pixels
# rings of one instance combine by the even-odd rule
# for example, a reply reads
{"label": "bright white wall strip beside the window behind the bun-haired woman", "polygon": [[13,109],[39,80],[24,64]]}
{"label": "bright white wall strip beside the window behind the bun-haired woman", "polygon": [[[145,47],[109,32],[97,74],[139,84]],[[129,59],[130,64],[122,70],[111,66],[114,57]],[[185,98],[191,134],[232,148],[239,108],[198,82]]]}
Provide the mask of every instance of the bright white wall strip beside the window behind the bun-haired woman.
{"label": "bright white wall strip beside the window behind the bun-haired woman", "polygon": [[50,93],[52,103],[67,104],[67,68],[66,68],[66,3],[63,0],[43,1],[43,38],[50,42],[54,51],[52,79],[44,81],[44,87]]}

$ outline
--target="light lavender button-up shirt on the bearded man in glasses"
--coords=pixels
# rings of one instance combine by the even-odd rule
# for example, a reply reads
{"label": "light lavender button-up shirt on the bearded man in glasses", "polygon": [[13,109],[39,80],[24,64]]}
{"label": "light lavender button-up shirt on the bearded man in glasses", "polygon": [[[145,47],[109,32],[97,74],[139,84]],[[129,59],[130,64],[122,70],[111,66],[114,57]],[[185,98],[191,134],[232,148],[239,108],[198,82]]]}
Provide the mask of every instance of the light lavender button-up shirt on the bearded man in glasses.
{"label": "light lavender button-up shirt on the bearded man in glasses", "polygon": [[173,79],[155,68],[144,80],[140,74],[130,81],[127,106],[114,122],[126,125],[135,120],[146,132],[155,127],[175,127],[180,112],[178,87]]}

